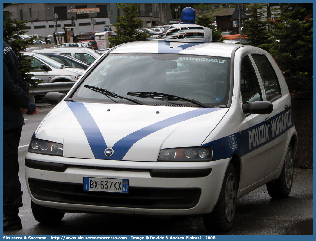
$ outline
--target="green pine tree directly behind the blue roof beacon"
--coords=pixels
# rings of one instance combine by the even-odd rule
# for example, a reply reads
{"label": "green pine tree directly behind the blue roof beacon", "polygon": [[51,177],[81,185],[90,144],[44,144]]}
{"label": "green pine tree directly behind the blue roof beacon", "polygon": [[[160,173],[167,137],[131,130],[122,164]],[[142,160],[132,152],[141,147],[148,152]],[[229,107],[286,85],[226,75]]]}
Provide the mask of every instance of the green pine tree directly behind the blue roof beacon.
{"label": "green pine tree directly behind the blue roof beacon", "polygon": [[214,17],[212,15],[205,14],[207,10],[211,9],[211,4],[203,4],[194,6],[196,10],[196,24],[212,29],[212,42],[223,42],[221,39],[221,29],[216,29],[216,26],[213,25]]}

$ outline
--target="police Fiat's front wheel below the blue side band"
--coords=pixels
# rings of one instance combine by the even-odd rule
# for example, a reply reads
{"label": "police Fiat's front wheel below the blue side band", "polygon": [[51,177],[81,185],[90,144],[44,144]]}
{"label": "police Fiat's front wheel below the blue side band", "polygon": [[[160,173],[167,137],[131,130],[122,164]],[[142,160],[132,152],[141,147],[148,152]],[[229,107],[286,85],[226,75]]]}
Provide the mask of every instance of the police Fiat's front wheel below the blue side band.
{"label": "police Fiat's front wheel below the blue side band", "polygon": [[216,206],[211,213],[203,215],[204,226],[210,233],[227,232],[233,226],[237,203],[236,180],[234,166],[229,163]]}

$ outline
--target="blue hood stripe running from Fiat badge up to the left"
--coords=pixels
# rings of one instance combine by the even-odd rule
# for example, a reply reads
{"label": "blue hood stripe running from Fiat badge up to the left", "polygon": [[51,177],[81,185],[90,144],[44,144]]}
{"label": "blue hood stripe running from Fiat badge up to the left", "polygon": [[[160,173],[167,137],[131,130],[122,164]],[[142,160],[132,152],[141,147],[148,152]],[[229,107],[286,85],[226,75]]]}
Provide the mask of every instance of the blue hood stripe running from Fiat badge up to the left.
{"label": "blue hood stripe running from Fiat badge up to the left", "polygon": [[66,102],[86,135],[95,159],[105,159],[106,143],[87,108],[80,102]]}

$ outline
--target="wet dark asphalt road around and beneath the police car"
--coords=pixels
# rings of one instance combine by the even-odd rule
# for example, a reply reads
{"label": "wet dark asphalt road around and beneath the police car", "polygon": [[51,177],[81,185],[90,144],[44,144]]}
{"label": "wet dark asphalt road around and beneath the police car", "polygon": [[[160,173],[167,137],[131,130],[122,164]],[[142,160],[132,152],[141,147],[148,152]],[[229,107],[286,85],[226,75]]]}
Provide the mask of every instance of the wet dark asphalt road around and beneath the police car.
{"label": "wet dark asphalt road around and beneath the police car", "polygon": [[[38,223],[32,215],[30,197],[24,176],[24,156],[29,140],[40,121],[52,107],[40,108],[40,114],[25,116],[19,148],[20,180],[23,207],[20,217],[23,229],[3,235],[208,235],[202,215],[177,216],[169,219],[117,214],[66,213],[59,224]],[[262,186],[237,202],[231,231],[225,235],[312,234],[313,232],[313,170],[294,170],[291,194],[285,199],[272,199]]]}

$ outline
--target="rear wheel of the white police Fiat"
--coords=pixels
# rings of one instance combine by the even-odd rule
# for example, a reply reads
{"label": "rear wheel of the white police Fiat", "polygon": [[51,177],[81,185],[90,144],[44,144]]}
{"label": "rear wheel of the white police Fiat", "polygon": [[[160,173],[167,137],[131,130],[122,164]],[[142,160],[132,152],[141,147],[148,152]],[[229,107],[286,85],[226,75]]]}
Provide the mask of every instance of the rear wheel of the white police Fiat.
{"label": "rear wheel of the white police Fiat", "polygon": [[267,190],[270,197],[285,198],[290,195],[294,176],[294,155],[293,147],[289,145],[281,174],[278,179],[267,183]]}

